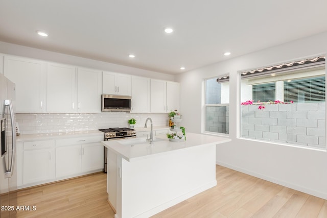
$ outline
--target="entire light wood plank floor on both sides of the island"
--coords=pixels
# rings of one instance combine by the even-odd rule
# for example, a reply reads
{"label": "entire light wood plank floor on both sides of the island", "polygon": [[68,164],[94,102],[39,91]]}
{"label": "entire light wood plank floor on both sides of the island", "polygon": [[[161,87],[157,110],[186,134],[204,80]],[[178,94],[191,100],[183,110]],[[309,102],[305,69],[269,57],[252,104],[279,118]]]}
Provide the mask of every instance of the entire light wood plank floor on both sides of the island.
{"label": "entire light wood plank floor on both sides of the island", "polygon": [[[231,169],[216,166],[217,186],[152,218],[308,217],[326,218],[327,201]],[[94,174],[18,191],[17,217],[109,217],[106,174]]]}

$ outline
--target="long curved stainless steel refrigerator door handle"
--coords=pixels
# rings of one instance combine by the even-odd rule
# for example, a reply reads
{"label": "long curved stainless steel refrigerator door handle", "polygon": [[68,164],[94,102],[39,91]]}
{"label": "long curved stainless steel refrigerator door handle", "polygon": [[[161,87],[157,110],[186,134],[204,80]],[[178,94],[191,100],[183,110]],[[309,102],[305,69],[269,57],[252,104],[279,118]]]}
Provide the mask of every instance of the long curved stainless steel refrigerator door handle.
{"label": "long curved stainless steel refrigerator door handle", "polygon": [[10,113],[10,122],[11,122],[11,139],[12,139],[12,151],[11,151],[11,160],[10,160],[10,168],[6,169],[5,178],[10,178],[13,169],[14,169],[14,158],[15,158],[15,150],[16,150],[16,128],[15,128],[15,119],[14,119],[14,111],[12,109],[12,104],[10,100],[5,100],[5,107],[3,109],[3,114],[5,114],[6,107],[9,107],[9,113]]}

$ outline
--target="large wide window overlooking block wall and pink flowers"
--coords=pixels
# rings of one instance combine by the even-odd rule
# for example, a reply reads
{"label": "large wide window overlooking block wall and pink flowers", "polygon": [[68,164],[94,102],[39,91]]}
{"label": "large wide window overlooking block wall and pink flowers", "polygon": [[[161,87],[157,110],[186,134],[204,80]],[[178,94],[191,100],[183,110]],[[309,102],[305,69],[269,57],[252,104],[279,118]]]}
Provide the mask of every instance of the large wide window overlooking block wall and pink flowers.
{"label": "large wide window overlooking block wall and pink flowers", "polygon": [[324,56],[240,76],[241,137],[325,149]]}

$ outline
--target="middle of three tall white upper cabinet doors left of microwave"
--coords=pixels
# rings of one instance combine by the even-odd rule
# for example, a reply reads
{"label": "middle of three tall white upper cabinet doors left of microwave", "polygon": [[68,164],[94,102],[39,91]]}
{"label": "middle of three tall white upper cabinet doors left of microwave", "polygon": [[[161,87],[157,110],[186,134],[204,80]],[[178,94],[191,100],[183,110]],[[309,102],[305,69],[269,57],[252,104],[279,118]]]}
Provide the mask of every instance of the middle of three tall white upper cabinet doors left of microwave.
{"label": "middle of three tall white upper cabinet doors left of microwave", "polygon": [[46,71],[46,111],[75,112],[76,67],[48,63]]}

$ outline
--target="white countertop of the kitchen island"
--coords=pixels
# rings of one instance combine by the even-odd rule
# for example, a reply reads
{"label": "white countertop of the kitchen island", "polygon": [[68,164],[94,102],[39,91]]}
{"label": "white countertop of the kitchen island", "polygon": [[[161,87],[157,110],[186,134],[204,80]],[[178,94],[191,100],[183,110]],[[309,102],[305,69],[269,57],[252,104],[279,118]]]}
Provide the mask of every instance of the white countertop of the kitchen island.
{"label": "white countertop of the kitchen island", "polygon": [[166,135],[162,135],[156,136],[153,144],[146,141],[146,138],[144,137],[102,141],[102,143],[110,151],[121,155],[124,159],[131,162],[149,156],[161,155],[166,152],[189,149],[197,146],[219,144],[228,141],[231,141],[231,139],[197,133],[186,133],[186,140],[181,142],[169,141]]}

